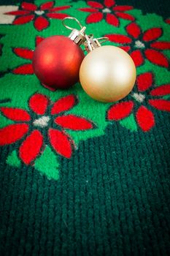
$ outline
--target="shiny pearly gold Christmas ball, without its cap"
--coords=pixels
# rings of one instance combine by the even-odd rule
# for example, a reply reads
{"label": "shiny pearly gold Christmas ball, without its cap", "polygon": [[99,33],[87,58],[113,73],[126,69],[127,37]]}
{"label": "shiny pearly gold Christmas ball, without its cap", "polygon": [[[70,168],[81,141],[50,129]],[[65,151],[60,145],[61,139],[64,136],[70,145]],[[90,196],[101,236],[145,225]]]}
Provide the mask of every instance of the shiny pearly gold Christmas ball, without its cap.
{"label": "shiny pearly gold Christmas ball, without its cap", "polygon": [[136,80],[131,56],[118,47],[105,45],[85,56],[80,67],[80,83],[85,92],[101,102],[123,99]]}

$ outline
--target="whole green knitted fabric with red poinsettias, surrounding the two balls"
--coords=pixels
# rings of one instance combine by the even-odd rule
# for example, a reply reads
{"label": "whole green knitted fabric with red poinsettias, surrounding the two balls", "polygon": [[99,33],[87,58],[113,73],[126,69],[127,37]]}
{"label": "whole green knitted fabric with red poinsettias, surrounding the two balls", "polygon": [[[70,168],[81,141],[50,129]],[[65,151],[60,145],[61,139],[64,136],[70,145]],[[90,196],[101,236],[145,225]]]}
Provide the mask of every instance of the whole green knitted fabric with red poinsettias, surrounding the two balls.
{"label": "whole green knitted fabric with red poinsettias, surrounding the two balls", "polygon": [[[127,97],[36,78],[67,15],[134,59]],[[169,255],[169,29],[169,1],[0,1],[0,255]]]}

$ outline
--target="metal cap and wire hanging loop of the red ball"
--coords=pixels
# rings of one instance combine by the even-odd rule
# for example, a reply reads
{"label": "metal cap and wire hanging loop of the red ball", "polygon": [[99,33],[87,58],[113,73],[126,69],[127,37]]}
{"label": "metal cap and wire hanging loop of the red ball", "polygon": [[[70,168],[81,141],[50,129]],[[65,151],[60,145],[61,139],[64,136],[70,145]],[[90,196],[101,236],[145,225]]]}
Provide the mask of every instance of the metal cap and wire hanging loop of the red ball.
{"label": "metal cap and wire hanging loop of the red ball", "polygon": [[[77,24],[80,26],[80,30],[74,29],[70,26],[66,25],[66,20],[75,20]],[[62,20],[63,26],[65,26],[66,29],[72,30],[71,34],[69,34],[69,38],[74,41],[77,45],[82,45],[83,42],[85,42],[85,26],[82,26],[79,20],[74,17],[66,17]]]}

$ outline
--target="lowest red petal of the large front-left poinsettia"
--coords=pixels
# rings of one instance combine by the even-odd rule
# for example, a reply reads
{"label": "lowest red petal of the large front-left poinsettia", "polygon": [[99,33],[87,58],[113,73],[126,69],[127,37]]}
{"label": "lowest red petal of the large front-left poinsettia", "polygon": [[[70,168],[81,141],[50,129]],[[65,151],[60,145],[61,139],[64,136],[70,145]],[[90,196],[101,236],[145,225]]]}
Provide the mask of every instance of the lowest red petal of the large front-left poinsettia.
{"label": "lowest red petal of the large front-left poinsettia", "polygon": [[41,132],[38,130],[31,132],[31,135],[28,135],[26,140],[24,140],[20,146],[20,159],[22,159],[26,165],[29,165],[39,155],[42,143],[43,137]]}

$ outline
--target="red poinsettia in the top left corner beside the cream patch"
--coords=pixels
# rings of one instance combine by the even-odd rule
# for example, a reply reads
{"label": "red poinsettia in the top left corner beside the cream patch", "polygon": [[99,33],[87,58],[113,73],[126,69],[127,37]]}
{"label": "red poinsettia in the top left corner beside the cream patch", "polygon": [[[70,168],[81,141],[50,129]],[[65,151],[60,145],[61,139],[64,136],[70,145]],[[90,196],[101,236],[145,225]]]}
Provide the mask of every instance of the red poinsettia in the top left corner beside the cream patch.
{"label": "red poinsettia in the top left corner beside the cream patch", "polygon": [[41,4],[40,7],[37,7],[35,4],[27,3],[23,1],[20,6],[20,10],[13,12],[6,12],[6,15],[16,15],[17,18],[13,21],[15,25],[21,25],[34,20],[34,27],[38,31],[47,29],[50,25],[49,18],[63,19],[68,15],[65,13],[58,13],[58,11],[66,10],[70,6],[61,6],[54,7],[54,1],[47,1],[44,4]]}

